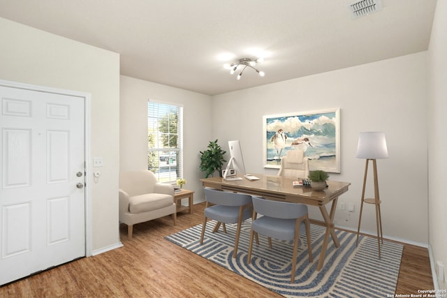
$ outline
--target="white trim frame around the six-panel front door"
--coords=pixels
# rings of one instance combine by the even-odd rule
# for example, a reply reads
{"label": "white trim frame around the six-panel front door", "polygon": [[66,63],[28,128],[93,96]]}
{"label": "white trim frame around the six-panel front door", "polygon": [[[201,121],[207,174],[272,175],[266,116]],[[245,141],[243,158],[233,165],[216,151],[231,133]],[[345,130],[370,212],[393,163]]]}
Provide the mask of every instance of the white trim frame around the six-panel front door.
{"label": "white trim frame around the six-panel front door", "polygon": [[40,91],[51,94],[61,94],[66,96],[75,96],[84,100],[84,137],[85,137],[85,256],[92,255],[91,252],[91,164],[90,164],[90,133],[91,133],[91,94],[80,91],[72,91],[66,89],[57,89],[52,87],[43,87],[34,84],[27,84],[22,82],[13,82],[8,80],[0,80],[0,86],[17,89],[25,89],[30,91]]}

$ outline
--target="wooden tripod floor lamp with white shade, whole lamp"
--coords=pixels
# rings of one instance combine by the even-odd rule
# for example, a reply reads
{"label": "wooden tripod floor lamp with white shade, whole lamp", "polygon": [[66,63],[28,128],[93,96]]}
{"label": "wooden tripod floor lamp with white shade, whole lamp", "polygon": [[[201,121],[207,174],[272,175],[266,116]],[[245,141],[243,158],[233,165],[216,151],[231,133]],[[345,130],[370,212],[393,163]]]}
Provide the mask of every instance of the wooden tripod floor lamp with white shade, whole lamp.
{"label": "wooden tripod floor lamp with white shade, whole lamp", "polygon": [[[377,131],[369,131],[360,133],[358,138],[357,158],[366,158],[365,163],[365,177],[363,178],[362,202],[360,204],[360,217],[358,218],[358,230],[356,245],[358,244],[358,234],[360,233],[360,223],[362,221],[363,203],[374,204],[376,207],[376,226],[377,226],[377,243],[379,245],[379,259],[380,244],[383,244],[382,219],[380,214],[380,197],[379,197],[379,181],[377,179],[377,165],[376,159],[388,158],[388,149],[386,148],[385,133]],[[365,187],[368,174],[368,164],[372,161],[372,169],[374,173],[374,198],[365,199]]]}

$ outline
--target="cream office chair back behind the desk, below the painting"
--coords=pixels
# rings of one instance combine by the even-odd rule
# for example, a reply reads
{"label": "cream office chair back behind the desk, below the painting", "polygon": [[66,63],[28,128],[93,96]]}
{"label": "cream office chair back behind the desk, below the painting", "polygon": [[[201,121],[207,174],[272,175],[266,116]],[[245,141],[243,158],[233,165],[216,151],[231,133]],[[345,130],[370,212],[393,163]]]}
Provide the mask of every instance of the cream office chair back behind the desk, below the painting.
{"label": "cream office chair back behind the desk, below the painting", "polygon": [[309,176],[309,160],[302,150],[289,150],[281,158],[281,167],[278,176],[305,178]]}

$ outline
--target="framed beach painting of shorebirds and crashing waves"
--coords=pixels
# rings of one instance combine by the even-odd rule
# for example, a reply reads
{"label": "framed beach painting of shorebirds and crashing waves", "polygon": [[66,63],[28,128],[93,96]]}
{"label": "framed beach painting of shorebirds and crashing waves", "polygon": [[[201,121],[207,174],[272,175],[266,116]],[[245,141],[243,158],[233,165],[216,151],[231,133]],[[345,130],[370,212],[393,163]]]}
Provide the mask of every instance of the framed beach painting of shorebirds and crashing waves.
{"label": "framed beach painting of shorebirds and crashing waves", "polygon": [[310,170],[340,172],[339,108],[263,117],[264,167],[278,168],[287,151],[300,149]]}

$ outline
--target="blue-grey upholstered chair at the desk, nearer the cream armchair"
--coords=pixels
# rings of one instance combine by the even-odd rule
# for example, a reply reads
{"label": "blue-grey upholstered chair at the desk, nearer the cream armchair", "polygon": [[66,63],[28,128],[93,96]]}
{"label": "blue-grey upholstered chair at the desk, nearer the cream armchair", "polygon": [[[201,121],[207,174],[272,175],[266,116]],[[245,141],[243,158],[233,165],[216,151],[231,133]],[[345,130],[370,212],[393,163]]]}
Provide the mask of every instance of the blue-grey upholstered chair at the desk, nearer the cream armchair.
{"label": "blue-grey upholstered chair at the desk, nearer the cream armchair", "polygon": [[[226,223],[237,223],[235,248],[233,251],[233,258],[236,258],[242,221],[250,218],[253,214],[251,195],[217,191],[210,188],[205,188],[204,191],[206,205],[205,211],[203,212],[205,216],[203,219],[202,234],[200,235],[200,244],[203,244],[203,237],[205,235],[205,228],[208,218],[217,221],[217,225],[214,227],[212,232],[217,232],[221,223],[223,223],[224,232],[226,232]],[[210,206],[210,204],[213,205]]]}

